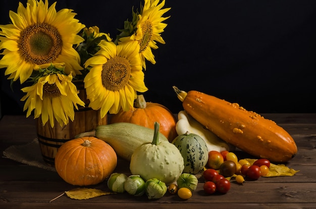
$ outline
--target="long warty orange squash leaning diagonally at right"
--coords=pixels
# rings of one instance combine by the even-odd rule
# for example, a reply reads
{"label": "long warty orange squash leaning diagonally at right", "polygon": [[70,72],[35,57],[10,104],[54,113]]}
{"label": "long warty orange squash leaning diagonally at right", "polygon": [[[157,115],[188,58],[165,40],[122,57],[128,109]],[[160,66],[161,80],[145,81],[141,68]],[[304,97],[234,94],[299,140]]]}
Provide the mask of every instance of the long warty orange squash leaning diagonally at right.
{"label": "long warty orange squash leaning diagonally at right", "polygon": [[173,88],[189,115],[239,149],[272,162],[287,162],[297,153],[293,138],[274,121],[246,111],[238,103]]}

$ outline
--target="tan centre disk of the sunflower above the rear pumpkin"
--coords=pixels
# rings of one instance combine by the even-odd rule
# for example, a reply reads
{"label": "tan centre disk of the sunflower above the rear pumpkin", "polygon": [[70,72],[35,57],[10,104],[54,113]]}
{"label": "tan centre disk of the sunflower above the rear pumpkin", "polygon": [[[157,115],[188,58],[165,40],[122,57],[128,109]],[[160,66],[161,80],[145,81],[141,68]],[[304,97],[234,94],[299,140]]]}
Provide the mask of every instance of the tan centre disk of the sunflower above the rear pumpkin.
{"label": "tan centre disk of the sunflower above the rear pumpkin", "polygon": [[102,85],[110,91],[119,91],[128,83],[131,66],[128,60],[114,57],[102,66]]}

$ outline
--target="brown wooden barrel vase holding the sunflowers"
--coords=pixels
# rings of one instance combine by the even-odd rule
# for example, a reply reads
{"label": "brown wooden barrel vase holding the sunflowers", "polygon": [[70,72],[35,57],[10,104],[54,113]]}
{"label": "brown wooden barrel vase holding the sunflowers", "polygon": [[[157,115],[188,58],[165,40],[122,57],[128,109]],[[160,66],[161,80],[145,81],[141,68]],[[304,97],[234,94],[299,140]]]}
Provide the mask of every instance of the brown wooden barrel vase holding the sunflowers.
{"label": "brown wooden barrel vase holding the sunflowers", "polygon": [[86,97],[83,82],[75,84],[79,90],[78,96],[86,106],[78,106],[78,110],[75,109],[74,121],[70,120],[67,125],[61,127],[55,120],[55,126],[51,128],[49,121],[43,125],[40,118],[36,119],[36,132],[42,157],[44,162],[50,166],[55,166],[55,155],[58,148],[66,141],[74,139],[80,133],[92,131],[98,125],[108,123],[107,116],[101,118],[100,111],[88,108],[89,100]]}

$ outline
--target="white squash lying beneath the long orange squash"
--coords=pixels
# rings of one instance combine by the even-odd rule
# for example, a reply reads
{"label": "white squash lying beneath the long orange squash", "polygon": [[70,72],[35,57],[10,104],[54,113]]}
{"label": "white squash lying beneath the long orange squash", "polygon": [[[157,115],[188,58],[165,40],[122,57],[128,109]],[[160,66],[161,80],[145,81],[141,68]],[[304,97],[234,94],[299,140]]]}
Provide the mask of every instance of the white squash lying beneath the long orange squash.
{"label": "white squash lying beneath the long orange squash", "polygon": [[213,132],[206,129],[202,124],[188,115],[186,111],[180,111],[178,113],[176,130],[178,135],[185,134],[187,131],[199,135],[202,139],[204,139],[208,151],[231,151],[234,149],[234,146],[228,144]]}

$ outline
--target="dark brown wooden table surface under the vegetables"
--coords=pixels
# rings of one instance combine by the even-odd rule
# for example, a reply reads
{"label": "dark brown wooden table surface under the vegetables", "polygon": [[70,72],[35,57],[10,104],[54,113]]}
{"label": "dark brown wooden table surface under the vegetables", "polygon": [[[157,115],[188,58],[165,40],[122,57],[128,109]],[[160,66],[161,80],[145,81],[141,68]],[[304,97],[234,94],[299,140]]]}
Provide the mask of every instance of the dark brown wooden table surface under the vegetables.
{"label": "dark brown wooden table surface under the vegetables", "polygon": [[[316,114],[261,114],[274,120],[296,141],[298,153],[286,166],[299,170],[294,176],[260,177],[244,185],[231,183],[227,194],[205,195],[203,178],[188,200],[177,195],[148,200],[127,193],[87,200],[66,195],[49,203],[64,191],[77,188],[64,182],[56,172],[0,158],[0,208],[316,208]],[[35,122],[25,116],[5,115],[0,120],[0,151],[22,145],[36,137]],[[242,151],[238,156],[252,158]],[[129,163],[119,159],[115,172],[129,175]],[[102,182],[88,188],[109,191]]]}

